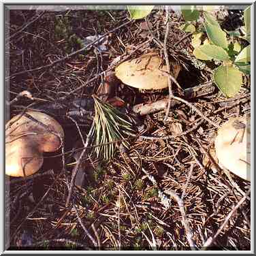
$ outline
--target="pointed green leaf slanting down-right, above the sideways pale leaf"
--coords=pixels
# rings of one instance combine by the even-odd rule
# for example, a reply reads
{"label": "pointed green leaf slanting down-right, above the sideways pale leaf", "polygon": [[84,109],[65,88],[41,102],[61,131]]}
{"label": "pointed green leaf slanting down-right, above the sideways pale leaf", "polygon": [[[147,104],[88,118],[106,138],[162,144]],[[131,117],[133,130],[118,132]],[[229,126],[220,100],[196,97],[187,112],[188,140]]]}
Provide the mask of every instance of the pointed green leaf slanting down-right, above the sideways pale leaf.
{"label": "pointed green leaf slanting down-right, above the sideways pale leaf", "polygon": [[204,22],[204,27],[206,28],[206,33],[213,44],[221,46],[224,49],[227,48],[226,33],[220,27],[208,22]]}

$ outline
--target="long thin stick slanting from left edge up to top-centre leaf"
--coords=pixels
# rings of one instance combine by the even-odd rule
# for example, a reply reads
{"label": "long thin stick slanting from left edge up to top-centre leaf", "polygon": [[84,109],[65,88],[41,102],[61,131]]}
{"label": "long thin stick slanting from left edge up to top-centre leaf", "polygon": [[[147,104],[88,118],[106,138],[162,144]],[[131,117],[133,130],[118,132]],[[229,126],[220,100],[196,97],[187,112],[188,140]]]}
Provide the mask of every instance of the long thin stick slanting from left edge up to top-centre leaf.
{"label": "long thin stick slanting from left edge up to top-centre leaf", "polygon": [[100,37],[98,37],[97,39],[95,39],[93,42],[91,42],[90,44],[87,44],[86,46],[84,46],[83,48],[81,48],[80,50],[76,50],[75,52],[71,52],[71,54],[68,54],[67,56],[63,57],[62,59],[58,59],[57,61],[53,61],[52,63],[48,64],[48,65],[44,65],[41,67],[36,67],[34,69],[29,69],[29,70],[24,70],[24,71],[20,71],[17,73],[12,74],[12,76],[7,76],[6,80],[9,80],[10,78],[13,78],[14,76],[19,76],[21,74],[27,74],[29,72],[33,72],[33,71],[39,71],[39,70],[44,70],[44,69],[48,69],[50,67],[53,67],[54,65],[57,65],[58,63],[61,63],[63,61],[66,61],[67,59],[74,57],[75,55],[79,54],[80,52],[83,52],[84,50],[86,50],[87,48],[90,48],[91,46],[93,46],[93,44],[99,42],[101,39],[103,39],[104,37],[106,37],[108,34],[110,33],[114,33],[114,31],[121,29],[122,27],[125,27],[127,25],[129,25],[131,22],[133,22],[133,20],[129,20],[128,22],[125,22],[124,24],[116,27],[115,29],[112,29],[111,31],[106,32],[105,34],[101,35]]}

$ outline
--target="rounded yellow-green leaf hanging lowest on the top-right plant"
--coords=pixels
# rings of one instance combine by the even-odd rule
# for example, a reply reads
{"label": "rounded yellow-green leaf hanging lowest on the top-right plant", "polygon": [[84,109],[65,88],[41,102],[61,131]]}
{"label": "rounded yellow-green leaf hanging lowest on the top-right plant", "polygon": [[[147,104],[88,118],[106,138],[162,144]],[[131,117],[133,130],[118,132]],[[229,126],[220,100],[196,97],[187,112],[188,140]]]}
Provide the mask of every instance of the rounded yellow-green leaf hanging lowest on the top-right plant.
{"label": "rounded yellow-green leaf hanging lowest on the top-right plant", "polygon": [[242,73],[234,66],[219,66],[214,70],[214,82],[226,97],[234,97],[242,86]]}

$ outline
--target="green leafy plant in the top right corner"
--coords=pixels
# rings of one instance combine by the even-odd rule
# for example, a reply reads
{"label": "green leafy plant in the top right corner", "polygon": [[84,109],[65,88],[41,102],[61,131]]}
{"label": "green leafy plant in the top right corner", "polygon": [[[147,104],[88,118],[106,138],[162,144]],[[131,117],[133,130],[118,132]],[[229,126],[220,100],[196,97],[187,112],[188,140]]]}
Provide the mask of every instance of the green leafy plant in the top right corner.
{"label": "green leafy plant in the top right corner", "polygon": [[[185,7],[183,7],[185,9]],[[213,78],[220,91],[226,97],[234,97],[242,86],[242,73],[250,74],[251,69],[251,46],[241,48],[238,42],[234,42],[233,37],[242,37],[250,42],[251,37],[251,17],[250,7],[244,10],[244,36],[240,33],[226,33],[221,29],[219,22],[212,16],[206,8],[203,8],[203,27],[193,29],[192,21],[199,18],[199,10],[196,6],[187,6],[187,10],[182,10],[186,21],[183,31],[193,33],[192,44],[194,56],[203,61],[215,61],[220,63],[214,69]],[[205,31],[208,39],[202,44],[202,35]],[[229,37],[227,37],[227,34]]]}

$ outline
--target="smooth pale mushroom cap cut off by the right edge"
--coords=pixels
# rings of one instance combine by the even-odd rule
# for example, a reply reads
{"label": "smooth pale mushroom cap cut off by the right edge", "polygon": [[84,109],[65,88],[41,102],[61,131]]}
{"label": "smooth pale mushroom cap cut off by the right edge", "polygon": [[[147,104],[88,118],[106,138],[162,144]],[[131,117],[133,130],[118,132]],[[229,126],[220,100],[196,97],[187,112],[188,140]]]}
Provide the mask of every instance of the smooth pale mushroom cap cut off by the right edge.
{"label": "smooth pale mushroom cap cut off by the right edge", "polygon": [[251,167],[250,118],[236,117],[218,130],[214,146],[221,167],[250,181]]}

